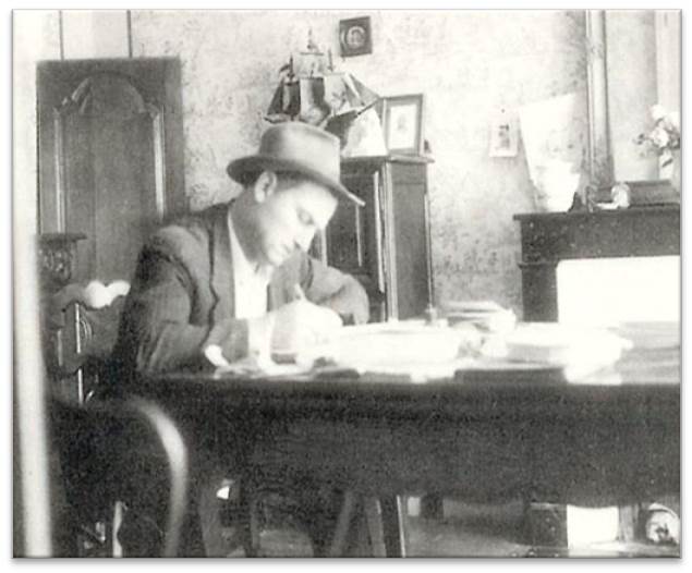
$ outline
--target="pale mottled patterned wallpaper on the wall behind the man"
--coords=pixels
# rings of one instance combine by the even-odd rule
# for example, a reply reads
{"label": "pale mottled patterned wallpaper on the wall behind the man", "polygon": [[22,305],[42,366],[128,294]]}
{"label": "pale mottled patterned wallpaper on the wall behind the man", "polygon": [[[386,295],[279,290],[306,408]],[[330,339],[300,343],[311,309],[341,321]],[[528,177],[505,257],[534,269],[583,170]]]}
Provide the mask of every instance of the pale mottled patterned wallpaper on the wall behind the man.
{"label": "pale mottled patterned wallpaper on the wall behind the man", "polygon": [[[338,23],[357,15],[372,17],[373,53],[344,60]],[[134,56],[182,60],[191,208],[238,192],[226,164],[256,147],[278,70],[304,49],[311,29],[338,68],[378,94],[425,95],[438,301],[493,298],[520,315],[512,216],[535,208],[533,186],[521,142],[517,157],[488,157],[490,121],[499,109],[515,114],[567,93],[585,103],[583,13],[133,11]]]}

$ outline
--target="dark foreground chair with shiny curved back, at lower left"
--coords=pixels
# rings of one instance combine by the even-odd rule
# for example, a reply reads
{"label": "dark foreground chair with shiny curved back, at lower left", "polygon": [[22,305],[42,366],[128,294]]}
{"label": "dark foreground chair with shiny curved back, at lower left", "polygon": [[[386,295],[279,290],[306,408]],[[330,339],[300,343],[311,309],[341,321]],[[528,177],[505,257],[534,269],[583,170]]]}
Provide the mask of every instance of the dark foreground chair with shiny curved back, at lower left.
{"label": "dark foreground chair with shiny curved back, at lower left", "polygon": [[90,400],[75,406],[56,399],[52,428],[69,508],[72,551],[121,557],[118,529],[133,492],[147,476],[168,476],[161,557],[175,557],[186,509],[187,451],[173,422],[156,404]]}

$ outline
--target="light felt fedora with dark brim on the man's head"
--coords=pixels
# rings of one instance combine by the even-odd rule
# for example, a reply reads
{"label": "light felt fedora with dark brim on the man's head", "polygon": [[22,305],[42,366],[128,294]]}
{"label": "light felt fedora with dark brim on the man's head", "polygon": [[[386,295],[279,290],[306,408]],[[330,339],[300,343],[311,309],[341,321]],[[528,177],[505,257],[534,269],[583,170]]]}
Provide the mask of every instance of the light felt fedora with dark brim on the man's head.
{"label": "light felt fedora with dark brim on the man's head", "polygon": [[239,183],[246,173],[265,170],[301,173],[362,207],[365,203],[341,184],[339,148],[339,138],[324,130],[298,121],[279,123],[263,134],[257,154],[231,161],[226,171]]}

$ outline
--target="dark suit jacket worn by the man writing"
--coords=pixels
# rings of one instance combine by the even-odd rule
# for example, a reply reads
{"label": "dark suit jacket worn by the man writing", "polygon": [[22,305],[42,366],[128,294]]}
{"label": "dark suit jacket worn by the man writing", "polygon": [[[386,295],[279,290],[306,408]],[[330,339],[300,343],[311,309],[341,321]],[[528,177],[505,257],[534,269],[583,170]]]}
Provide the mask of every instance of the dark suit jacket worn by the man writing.
{"label": "dark suit jacket worn by the man writing", "polygon": [[[247,354],[247,321],[233,318],[227,218],[228,205],[190,215],[159,230],[142,249],[113,352],[118,377],[204,367],[207,344],[221,346],[229,361]],[[355,322],[367,321],[367,295],[360,283],[302,253],[275,270],[269,309],[292,301],[295,283],[307,300],[351,314]],[[335,294],[339,303],[330,304]]]}

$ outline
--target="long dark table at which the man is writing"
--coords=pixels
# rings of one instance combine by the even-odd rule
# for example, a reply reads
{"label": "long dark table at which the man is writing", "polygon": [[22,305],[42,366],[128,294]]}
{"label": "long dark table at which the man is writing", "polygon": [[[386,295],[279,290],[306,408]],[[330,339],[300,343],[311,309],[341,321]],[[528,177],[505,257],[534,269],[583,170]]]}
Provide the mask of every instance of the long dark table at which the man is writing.
{"label": "long dark table at which the man is writing", "polygon": [[377,499],[603,507],[678,493],[679,346],[635,346],[615,373],[588,383],[549,368],[459,371],[425,383],[177,373],[143,379],[141,391],[163,402],[192,440]]}

